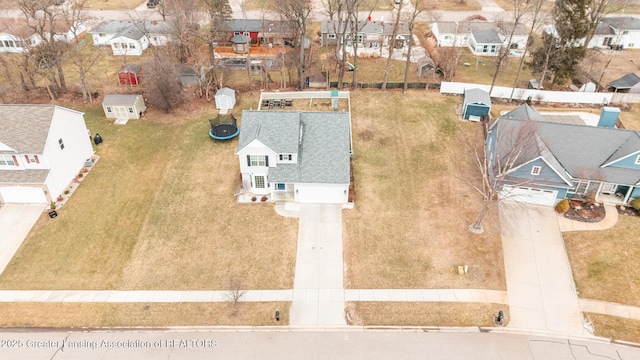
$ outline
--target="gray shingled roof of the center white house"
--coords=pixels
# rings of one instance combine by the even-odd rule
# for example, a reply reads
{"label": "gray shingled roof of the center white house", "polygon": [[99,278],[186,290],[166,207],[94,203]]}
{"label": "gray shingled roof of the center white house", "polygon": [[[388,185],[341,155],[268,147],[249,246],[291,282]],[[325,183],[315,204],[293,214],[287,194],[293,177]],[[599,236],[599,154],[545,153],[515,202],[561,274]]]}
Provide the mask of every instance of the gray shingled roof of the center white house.
{"label": "gray shingled roof of the center white house", "polygon": [[258,139],[276,153],[298,154],[297,164],[270,168],[270,181],[347,184],[349,134],[349,114],[344,112],[245,110],[236,152]]}

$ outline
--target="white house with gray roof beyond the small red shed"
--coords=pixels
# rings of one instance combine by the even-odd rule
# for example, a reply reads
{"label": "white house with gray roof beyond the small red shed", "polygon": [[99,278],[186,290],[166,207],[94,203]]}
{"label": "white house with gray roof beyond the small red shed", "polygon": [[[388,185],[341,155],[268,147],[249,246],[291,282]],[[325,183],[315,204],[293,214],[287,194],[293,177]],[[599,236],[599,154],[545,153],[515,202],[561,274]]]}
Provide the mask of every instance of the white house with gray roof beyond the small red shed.
{"label": "white house with gray roof beyond the small red shed", "polygon": [[113,55],[140,56],[151,46],[164,46],[171,38],[165,21],[109,20],[89,31],[94,46],[108,45]]}

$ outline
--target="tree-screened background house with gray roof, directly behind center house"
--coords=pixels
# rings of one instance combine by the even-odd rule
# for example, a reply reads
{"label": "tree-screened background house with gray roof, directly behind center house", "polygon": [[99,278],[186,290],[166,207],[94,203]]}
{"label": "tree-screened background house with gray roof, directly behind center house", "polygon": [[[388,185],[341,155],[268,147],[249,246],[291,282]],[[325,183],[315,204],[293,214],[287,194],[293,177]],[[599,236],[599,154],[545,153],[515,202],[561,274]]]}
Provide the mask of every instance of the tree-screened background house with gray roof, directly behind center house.
{"label": "tree-screened background house with gray roof, directly behind center house", "polygon": [[[358,53],[380,53],[381,49],[388,49],[393,37],[393,28],[395,23],[384,21],[361,21],[358,25],[356,42]],[[346,32],[345,32],[346,27]],[[339,23],[338,21],[323,20],[320,30],[320,44],[322,46],[335,46],[343,41],[347,42],[347,52],[353,54],[353,41],[351,39],[351,25],[349,22]],[[345,39],[341,34],[345,33]],[[398,23],[396,32],[395,48],[402,49],[408,46],[409,41],[409,25],[407,23]]]}

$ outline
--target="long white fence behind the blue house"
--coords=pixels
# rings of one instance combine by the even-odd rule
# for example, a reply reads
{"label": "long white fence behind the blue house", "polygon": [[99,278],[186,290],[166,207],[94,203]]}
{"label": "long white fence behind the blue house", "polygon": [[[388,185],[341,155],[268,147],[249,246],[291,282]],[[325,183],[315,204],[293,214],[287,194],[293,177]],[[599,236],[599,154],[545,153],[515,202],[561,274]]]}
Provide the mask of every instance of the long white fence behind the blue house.
{"label": "long white fence behind the blue house", "polygon": [[[441,94],[464,94],[465,89],[482,89],[489,91],[490,85],[469,84],[460,82],[443,82],[440,84]],[[568,103],[568,104],[600,104],[611,103],[640,103],[640,94],[621,93],[589,93],[574,91],[547,91],[520,89],[504,86],[494,86],[491,97],[514,100],[527,100],[531,98],[535,102]]]}

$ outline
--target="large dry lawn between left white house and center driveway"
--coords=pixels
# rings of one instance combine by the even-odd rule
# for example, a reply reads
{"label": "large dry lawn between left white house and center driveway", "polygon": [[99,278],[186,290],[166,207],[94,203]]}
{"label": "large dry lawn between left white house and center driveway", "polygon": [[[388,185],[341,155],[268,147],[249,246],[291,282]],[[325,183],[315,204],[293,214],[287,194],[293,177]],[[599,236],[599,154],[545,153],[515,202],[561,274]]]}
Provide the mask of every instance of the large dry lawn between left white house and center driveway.
{"label": "large dry lawn between left white house and center driveway", "polygon": [[126,126],[86,109],[101,159],[60,216],[43,214],[0,288],[292,288],[297,221],[236,203],[237,141],[212,142],[213,106],[198,106]]}

